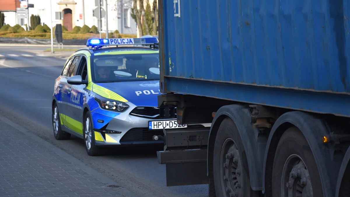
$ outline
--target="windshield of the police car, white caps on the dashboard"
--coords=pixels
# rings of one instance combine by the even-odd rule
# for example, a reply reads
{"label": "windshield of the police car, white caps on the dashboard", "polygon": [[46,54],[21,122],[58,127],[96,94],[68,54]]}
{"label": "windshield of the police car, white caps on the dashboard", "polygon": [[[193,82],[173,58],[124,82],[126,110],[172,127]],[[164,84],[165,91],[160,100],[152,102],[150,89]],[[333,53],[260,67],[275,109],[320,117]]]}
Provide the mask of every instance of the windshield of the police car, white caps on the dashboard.
{"label": "windshield of the police car, white caps on the dashboard", "polygon": [[159,53],[91,56],[95,83],[159,80]]}

